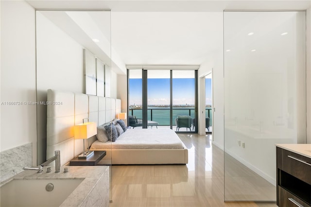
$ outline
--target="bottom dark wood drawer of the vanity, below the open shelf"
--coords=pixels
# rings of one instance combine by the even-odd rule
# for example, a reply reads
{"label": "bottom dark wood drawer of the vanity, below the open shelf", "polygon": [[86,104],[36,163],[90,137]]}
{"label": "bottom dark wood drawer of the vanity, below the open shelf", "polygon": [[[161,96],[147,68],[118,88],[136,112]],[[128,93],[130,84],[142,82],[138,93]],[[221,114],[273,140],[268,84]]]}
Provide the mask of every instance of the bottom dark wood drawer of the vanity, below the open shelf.
{"label": "bottom dark wood drawer of the vanity, below the open shelf", "polygon": [[[301,207],[311,207],[310,205],[303,202],[302,200],[294,196],[289,191],[283,189],[282,187],[277,186],[277,190],[278,190],[277,200],[279,207],[299,207],[298,205],[300,205]],[[295,203],[297,203],[298,205]]]}

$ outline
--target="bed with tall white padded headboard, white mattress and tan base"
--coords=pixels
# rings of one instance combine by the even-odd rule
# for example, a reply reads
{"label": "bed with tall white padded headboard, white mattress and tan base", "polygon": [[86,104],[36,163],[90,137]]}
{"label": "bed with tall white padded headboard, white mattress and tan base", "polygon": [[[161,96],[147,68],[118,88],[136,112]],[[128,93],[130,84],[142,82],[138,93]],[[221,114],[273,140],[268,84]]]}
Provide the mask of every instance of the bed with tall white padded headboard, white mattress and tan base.
{"label": "bed with tall white padded headboard, white mattress and tan base", "polygon": [[[51,89],[47,97],[48,103],[61,103],[47,105],[47,157],[52,157],[55,150],[61,150],[61,165],[82,153],[84,140],[74,139],[74,125],[82,123],[84,119],[96,122],[97,126],[110,124],[121,113],[120,99]],[[154,145],[146,147],[144,141],[150,140],[154,141]],[[132,143],[127,144],[126,148],[121,147],[126,141]],[[176,142],[178,147],[165,146],[164,143],[168,141]],[[88,142],[85,143],[87,146]],[[91,149],[106,150],[99,164],[188,163],[188,150],[171,129],[129,129],[114,143],[99,143],[93,136],[89,138],[89,144]]]}

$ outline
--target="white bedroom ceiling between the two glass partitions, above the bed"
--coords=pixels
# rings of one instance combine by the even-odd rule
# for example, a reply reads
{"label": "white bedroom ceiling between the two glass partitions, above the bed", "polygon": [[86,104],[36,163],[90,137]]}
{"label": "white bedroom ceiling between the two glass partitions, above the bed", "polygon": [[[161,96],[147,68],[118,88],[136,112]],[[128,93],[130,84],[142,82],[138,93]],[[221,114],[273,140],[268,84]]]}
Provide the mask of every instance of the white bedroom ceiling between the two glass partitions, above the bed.
{"label": "white bedroom ceiling between the two glass partitions, above the bed", "polygon": [[112,46],[126,65],[200,65],[222,45],[222,13],[114,12]]}

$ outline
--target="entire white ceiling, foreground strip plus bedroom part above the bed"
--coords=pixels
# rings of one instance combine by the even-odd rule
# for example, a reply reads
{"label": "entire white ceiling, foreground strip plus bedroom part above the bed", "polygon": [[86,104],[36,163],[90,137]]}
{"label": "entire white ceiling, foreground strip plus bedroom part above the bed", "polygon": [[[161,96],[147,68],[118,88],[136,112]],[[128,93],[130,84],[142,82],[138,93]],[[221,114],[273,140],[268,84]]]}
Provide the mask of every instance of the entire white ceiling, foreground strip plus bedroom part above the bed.
{"label": "entire white ceiling, foreground strip plus bedroom part above the bed", "polygon": [[121,68],[117,73],[124,73],[125,65],[202,64],[213,50],[222,47],[225,9],[307,9],[311,4],[310,0],[28,2],[36,9],[111,9],[111,56],[117,59],[115,66]]}

